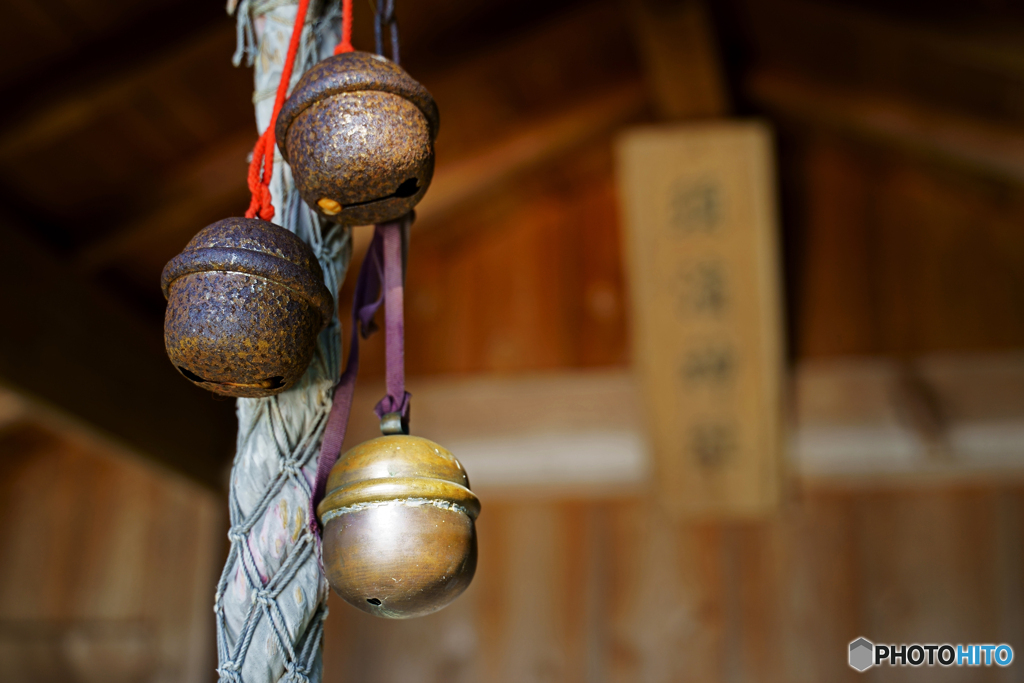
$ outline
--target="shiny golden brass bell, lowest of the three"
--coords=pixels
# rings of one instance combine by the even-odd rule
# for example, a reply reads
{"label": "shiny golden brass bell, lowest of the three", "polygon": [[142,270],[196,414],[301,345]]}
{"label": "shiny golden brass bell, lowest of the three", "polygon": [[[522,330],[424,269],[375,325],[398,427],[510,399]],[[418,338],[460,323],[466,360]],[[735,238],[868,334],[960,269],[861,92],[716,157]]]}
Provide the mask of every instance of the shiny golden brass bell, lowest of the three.
{"label": "shiny golden brass bell, lowest of the three", "polygon": [[316,508],[324,568],[349,604],[391,618],[437,611],[476,570],[480,503],[459,461],[418,436],[390,434],[335,464]]}

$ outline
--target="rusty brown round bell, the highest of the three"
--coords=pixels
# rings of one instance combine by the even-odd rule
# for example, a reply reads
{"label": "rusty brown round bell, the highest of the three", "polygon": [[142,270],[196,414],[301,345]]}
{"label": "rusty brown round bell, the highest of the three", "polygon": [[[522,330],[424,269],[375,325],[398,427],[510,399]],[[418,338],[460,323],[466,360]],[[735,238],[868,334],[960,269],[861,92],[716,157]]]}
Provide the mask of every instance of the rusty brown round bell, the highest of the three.
{"label": "rusty brown round bell, the highest of the three", "polygon": [[274,132],[306,204],[331,220],[369,225],[423,198],[437,125],[426,88],[394,62],[353,51],[303,74]]}

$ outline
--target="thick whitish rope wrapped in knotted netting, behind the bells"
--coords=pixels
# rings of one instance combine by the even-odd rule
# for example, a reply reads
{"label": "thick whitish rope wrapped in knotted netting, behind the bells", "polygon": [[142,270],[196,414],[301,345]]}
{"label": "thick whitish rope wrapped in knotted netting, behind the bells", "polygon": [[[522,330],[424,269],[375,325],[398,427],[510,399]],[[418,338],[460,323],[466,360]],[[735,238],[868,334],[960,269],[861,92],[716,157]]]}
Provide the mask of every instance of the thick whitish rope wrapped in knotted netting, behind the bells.
{"label": "thick whitish rope wrapped in knotted netting, behind the bells", "polygon": [[[256,122],[263,131],[295,23],[296,0],[243,0],[239,49],[254,67]],[[296,57],[292,86],[337,40],[337,9],[313,2]],[[257,34],[259,34],[257,36]],[[269,96],[262,96],[269,93]],[[293,191],[291,169],[274,160],[274,222],[312,247],[329,290],[337,292],[351,256],[351,233],[321,224]],[[335,317],[321,335],[301,382],[269,398],[238,400],[239,439],[228,504],[230,551],[214,603],[217,673],[223,683],[316,683],[327,617],[327,580],[308,509],[316,456],[339,375]]]}

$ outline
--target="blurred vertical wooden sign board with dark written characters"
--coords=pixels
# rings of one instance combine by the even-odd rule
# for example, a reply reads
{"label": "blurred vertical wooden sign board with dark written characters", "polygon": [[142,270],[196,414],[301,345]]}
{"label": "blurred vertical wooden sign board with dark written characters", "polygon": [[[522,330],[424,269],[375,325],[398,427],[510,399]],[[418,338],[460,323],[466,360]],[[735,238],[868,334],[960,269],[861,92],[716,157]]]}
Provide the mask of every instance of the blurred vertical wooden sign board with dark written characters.
{"label": "blurred vertical wooden sign board with dark written characters", "polygon": [[770,131],[646,127],[617,153],[659,500],[678,514],[768,512],[779,499],[783,362]]}

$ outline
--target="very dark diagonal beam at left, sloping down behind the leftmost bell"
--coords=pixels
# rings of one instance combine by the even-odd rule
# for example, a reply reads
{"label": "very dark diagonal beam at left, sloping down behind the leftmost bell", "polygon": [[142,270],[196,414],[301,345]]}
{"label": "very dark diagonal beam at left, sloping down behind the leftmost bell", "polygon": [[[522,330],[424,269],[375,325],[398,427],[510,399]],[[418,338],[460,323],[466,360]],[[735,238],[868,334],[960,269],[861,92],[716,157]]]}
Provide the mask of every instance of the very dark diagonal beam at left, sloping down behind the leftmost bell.
{"label": "very dark diagonal beam at left, sloping down behind the leftmost bell", "polygon": [[0,216],[0,380],[130,450],[219,487],[233,402],[174,371],[159,329],[135,319]]}

